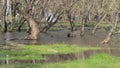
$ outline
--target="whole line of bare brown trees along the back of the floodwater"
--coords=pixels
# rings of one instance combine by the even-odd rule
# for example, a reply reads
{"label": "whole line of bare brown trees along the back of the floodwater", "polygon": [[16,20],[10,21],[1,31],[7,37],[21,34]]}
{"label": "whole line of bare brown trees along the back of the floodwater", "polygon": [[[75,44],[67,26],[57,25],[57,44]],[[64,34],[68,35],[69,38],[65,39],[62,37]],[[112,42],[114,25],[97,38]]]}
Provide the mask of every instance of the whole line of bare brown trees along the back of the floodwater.
{"label": "whole line of bare brown trees along the back of the floodwater", "polygon": [[28,26],[26,39],[38,39],[40,32],[48,31],[58,21],[68,21],[71,32],[75,22],[82,24],[80,35],[84,35],[85,25],[95,23],[91,31],[95,34],[101,23],[111,26],[102,43],[109,42],[115,32],[120,17],[120,0],[0,0],[0,20],[2,32]]}

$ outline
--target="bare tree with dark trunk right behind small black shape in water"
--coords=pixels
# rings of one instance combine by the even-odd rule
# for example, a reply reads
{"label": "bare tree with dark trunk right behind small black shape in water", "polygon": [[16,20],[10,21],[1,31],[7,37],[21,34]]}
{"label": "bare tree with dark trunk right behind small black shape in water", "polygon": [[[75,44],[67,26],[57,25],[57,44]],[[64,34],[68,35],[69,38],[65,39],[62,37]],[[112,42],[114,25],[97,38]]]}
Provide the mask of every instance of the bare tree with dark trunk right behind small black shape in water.
{"label": "bare tree with dark trunk right behind small black shape in water", "polygon": [[76,3],[79,2],[79,0],[70,0],[70,1],[65,1],[65,15],[67,16],[67,19],[70,23],[71,26],[71,32],[75,30],[75,19],[76,19],[76,8],[75,5]]}

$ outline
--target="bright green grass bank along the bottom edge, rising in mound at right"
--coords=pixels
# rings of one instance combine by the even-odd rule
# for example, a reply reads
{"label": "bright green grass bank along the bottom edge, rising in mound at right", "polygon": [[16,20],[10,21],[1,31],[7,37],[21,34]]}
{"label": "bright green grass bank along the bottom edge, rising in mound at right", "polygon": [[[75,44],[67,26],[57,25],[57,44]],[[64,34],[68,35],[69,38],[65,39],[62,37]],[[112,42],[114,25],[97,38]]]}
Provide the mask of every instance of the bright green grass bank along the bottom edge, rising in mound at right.
{"label": "bright green grass bank along the bottom edge, rising in mound at right", "polygon": [[95,54],[85,60],[73,60],[46,64],[1,65],[1,68],[119,68],[120,57]]}

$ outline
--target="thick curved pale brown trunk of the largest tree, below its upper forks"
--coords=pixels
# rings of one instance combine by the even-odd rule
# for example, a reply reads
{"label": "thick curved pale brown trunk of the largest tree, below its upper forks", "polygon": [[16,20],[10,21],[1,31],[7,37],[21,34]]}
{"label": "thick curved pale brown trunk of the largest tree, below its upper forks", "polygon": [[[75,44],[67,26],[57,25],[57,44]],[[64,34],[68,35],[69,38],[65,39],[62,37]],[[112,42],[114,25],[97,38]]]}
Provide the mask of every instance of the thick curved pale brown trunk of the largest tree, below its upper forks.
{"label": "thick curved pale brown trunk of the largest tree, below its upper forks", "polygon": [[23,18],[28,22],[28,26],[30,28],[30,33],[28,33],[28,36],[25,37],[25,39],[28,40],[38,40],[39,38],[39,25],[38,22],[34,19],[34,17],[29,13],[31,9],[21,9],[22,4],[17,4],[16,9],[20,15],[23,16]]}

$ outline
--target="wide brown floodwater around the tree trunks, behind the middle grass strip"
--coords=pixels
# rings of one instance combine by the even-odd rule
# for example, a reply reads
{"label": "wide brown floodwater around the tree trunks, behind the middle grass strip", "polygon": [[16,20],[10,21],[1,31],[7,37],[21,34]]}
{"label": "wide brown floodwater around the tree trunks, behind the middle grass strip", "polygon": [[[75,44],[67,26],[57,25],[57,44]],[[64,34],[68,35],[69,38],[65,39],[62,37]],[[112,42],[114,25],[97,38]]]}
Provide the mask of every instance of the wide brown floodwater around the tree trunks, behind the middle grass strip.
{"label": "wide brown floodwater around the tree trunks, behind the middle grass strip", "polygon": [[[0,33],[0,45],[7,44],[9,42],[17,42],[20,44],[76,44],[79,46],[104,46],[100,42],[105,38],[108,32],[104,29],[97,30],[95,35],[91,35],[91,29],[86,29],[85,35],[80,36],[80,31],[75,32],[74,37],[67,37],[68,30],[61,31],[48,31],[47,33],[40,33],[39,40],[20,40],[23,39],[26,32],[7,32],[6,34]],[[119,34],[113,35],[109,44],[110,47],[120,47]],[[106,45],[105,45],[106,46]]]}

